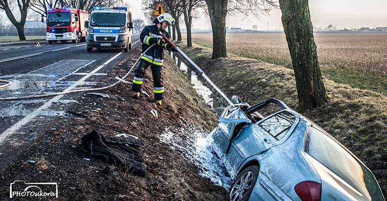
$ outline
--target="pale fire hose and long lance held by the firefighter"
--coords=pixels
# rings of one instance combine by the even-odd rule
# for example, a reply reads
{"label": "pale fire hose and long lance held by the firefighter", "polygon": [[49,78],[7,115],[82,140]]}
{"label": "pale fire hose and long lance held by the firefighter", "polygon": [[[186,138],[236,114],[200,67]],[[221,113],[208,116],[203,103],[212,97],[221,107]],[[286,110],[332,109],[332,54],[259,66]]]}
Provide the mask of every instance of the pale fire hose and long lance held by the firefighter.
{"label": "pale fire hose and long lance held by the firefighter", "polygon": [[[193,67],[196,68],[196,70],[199,71],[199,73],[203,76],[203,78],[227,101],[229,105],[232,105],[233,103],[231,100],[224,94],[211,80],[210,78],[204,73],[204,71],[195,63],[193,62],[183,51],[180,50],[180,48],[176,45],[174,45],[167,37],[165,37],[164,34],[159,32],[159,35],[163,37],[163,39],[169,43],[182,57],[184,57],[185,60],[187,60]],[[113,87],[123,81],[129,73],[133,70],[133,68],[136,66],[140,58],[149,50],[151,49],[154,45],[152,44],[151,46],[148,47],[141,55],[140,57],[136,60],[136,62],[133,64],[133,66],[130,68],[130,70],[123,76],[120,80],[116,81],[115,83],[104,86],[104,87],[99,87],[99,88],[85,88],[85,89],[77,89],[77,90],[69,90],[69,91],[61,91],[61,92],[56,92],[56,93],[49,93],[49,94],[39,94],[39,95],[28,95],[28,96],[19,96],[19,97],[3,97],[0,98],[0,100],[18,100],[18,99],[27,99],[27,98],[40,98],[40,97],[47,97],[47,96],[53,96],[53,95],[62,95],[62,94],[68,94],[68,93],[76,93],[76,92],[88,92],[88,91],[96,91],[96,90],[104,90],[110,87]],[[0,85],[0,88],[7,87],[11,85],[10,81],[7,80],[0,80],[0,82],[7,82],[5,85]]]}

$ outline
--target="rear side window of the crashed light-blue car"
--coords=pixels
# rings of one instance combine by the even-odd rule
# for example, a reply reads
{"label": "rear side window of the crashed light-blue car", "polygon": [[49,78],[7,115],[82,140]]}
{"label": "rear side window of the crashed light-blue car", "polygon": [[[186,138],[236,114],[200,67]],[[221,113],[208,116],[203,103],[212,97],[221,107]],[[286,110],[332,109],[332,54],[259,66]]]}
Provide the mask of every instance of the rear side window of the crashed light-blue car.
{"label": "rear side window of the crashed light-blue car", "polygon": [[259,126],[277,140],[281,140],[292,127],[296,117],[289,112],[278,113],[259,124]]}

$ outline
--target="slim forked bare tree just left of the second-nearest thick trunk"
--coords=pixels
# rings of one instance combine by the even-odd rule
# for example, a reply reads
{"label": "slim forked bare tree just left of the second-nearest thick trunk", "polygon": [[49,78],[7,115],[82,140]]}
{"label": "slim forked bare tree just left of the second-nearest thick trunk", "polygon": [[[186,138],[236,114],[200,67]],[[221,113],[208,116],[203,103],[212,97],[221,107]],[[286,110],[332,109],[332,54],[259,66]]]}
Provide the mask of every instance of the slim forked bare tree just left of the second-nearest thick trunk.
{"label": "slim forked bare tree just left of the second-nearest thick trunk", "polygon": [[205,3],[203,0],[182,0],[180,3],[183,9],[185,27],[187,29],[187,46],[192,47],[192,17],[196,16],[193,12],[198,8],[203,8]]}

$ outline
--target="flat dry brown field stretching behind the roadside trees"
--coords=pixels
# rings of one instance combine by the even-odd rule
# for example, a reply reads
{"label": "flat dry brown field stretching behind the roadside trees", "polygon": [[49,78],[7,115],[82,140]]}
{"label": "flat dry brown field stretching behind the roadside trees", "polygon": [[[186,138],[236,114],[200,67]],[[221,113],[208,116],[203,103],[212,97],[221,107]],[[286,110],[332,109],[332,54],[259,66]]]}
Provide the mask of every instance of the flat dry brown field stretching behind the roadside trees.
{"label": "flat dry brown field stretching behind the roadside trees", "polygon": [[[212,48],[212,34],[193,34]],[[284,33],[229,33],[227,51],[236,56],[292,66]],[[315,33],[324,76],[352,87],[387,94],[387,33]]]}

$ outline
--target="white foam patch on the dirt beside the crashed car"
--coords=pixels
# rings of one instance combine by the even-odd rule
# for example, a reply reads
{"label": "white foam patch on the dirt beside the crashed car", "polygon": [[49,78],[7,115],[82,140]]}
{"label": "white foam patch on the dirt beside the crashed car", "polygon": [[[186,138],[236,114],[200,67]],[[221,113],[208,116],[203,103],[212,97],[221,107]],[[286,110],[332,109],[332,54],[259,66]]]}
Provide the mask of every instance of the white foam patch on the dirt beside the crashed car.
{"label": "white foam patch on the dirt beside the crashed car", "polygon": [[198,168],[199,175],[210,179],[213,183],[223,186],[226,190],[232,182],[222,160],[215,154],[213,138],[195,128],[180,128],[171,131],[166,129],[160,141],[167,143],[174,151],[180,153],[185,160]]}

